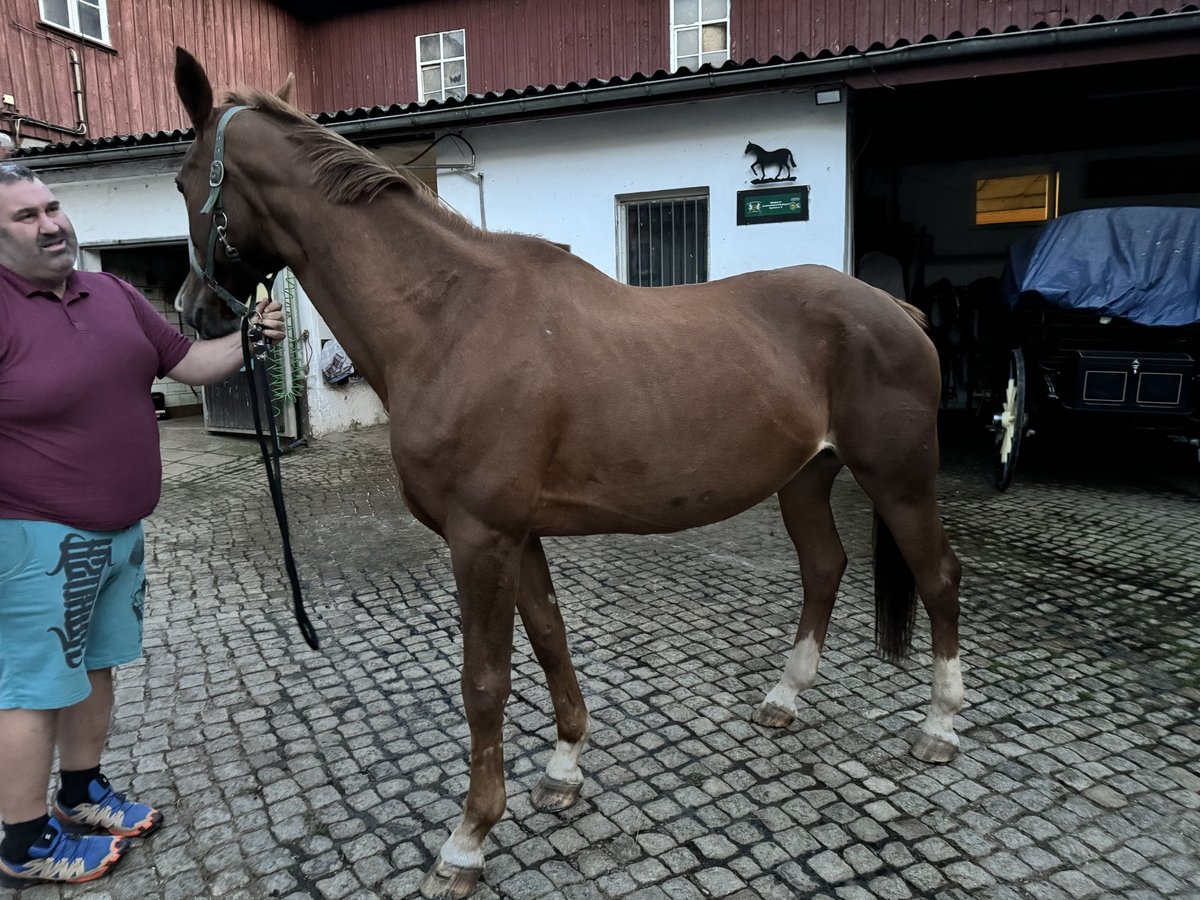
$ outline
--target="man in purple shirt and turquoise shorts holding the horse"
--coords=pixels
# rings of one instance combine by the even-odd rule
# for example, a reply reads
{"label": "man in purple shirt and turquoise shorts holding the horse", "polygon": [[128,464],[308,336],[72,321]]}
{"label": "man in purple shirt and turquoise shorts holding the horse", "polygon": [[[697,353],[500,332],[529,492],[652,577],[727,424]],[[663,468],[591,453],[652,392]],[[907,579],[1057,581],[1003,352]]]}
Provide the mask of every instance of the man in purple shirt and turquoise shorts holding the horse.
{"label": "man in purple shirt and turquoise shorts holding the horse", "polygon": [[[142,655],[150,385],[242,361],[238,332],[190,342],[130,284],[77,271],[78,250],[50,190],[0,161],[0,875],[28,881],[98,878],[162,822],[100,769],[113,667]],[[256,318],[283,340],[278,304]]]}

